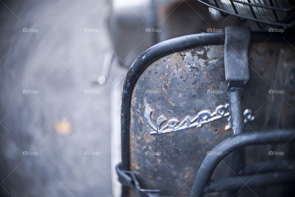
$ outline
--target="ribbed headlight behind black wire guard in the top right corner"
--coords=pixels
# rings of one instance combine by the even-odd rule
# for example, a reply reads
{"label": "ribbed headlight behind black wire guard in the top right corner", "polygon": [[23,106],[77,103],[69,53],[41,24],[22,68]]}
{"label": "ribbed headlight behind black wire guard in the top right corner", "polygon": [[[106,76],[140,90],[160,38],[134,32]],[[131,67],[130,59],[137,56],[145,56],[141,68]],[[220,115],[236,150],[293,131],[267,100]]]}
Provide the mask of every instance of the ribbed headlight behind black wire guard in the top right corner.
{"label": "ribbed headlight behind black wire guard in the top right corner", "polygon": [[[292,27],[294,6],[288,0],[197,0],[198,2],[219,10],[223,16],[234,15],[240,19],[248,19],[258,23],[265,23],[284,28]],[[274,5],[276,4],[276,5]]]}

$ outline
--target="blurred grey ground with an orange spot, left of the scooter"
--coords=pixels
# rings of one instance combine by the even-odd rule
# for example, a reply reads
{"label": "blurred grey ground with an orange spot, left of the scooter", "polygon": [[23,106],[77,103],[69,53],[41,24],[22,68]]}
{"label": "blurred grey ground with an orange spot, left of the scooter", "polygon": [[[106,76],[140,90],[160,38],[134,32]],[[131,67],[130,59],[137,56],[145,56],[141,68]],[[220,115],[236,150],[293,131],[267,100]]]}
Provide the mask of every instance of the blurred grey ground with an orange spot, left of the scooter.
{"label": "blurred grey ground with an orange spot, left of the scooter", "polygon": [[110,2],[0,4],[1,196],[112,196],[110,90],[127,69],[89,85],[112,51]]}

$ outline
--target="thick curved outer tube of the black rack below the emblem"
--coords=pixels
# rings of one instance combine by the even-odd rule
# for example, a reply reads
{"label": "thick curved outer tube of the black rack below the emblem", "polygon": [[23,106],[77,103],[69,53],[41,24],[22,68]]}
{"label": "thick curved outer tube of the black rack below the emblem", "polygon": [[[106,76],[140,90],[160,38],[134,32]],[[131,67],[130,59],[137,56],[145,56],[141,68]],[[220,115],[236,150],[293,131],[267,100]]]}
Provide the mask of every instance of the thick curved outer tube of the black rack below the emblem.
{"label": "thick curved outer tube of the black rack below the emblem", "polygon": [[217,165],[234,150],[248,145],[293,142],[295,141],[295,138],[293,138],[294,134],[294,129],[272,130],[267,132],[242,133],[223,140],[211,150],[212,152],[222,152],[222,154],[207,155],[201,164],[189,197],[203,196],[205,185],[209,183]]}

